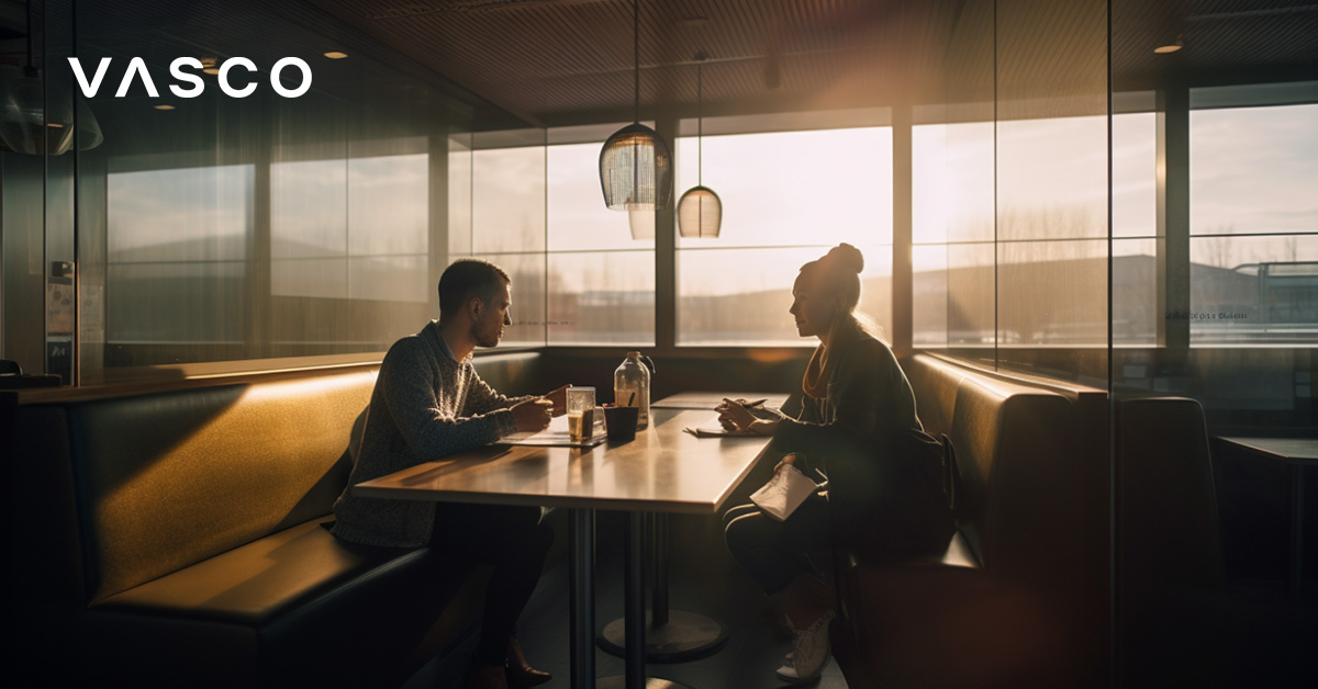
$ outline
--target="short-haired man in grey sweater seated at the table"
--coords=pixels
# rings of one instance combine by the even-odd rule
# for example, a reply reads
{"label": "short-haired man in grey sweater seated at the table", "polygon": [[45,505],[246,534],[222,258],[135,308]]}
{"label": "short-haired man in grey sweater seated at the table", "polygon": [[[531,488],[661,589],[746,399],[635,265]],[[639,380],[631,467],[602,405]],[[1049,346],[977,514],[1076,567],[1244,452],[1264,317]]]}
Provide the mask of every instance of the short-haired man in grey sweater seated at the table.
{"label": "short-haired man in grey sweater seated at the table", "polygon": [[544,397],[507,398],[476,374],[476,346],[494,346],[511,325],[507,273],[477,260],[439,278],[439,320],[394,343],[380,365],[348,489],[335,502],[333,534],[348,547],[418,548],[494,565],[472,689],[534,686],[550,680],[531,668],[513,638],[554,541],[539,507],[360,498],[351,486],[472,449],[519,431],[542,431],[567,411],[567,386]]}

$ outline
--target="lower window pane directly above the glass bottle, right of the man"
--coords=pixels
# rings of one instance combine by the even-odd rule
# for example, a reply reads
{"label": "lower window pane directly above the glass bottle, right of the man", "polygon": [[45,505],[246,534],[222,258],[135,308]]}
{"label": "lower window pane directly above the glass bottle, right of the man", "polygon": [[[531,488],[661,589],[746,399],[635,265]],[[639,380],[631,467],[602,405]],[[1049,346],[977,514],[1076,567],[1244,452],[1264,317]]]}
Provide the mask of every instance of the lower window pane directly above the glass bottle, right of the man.
{"label": "lower window pane directly above the glass bottle, right of the man", "polygon": [[654,252],[551,253],[548,283],[550,344],[654,345]]}

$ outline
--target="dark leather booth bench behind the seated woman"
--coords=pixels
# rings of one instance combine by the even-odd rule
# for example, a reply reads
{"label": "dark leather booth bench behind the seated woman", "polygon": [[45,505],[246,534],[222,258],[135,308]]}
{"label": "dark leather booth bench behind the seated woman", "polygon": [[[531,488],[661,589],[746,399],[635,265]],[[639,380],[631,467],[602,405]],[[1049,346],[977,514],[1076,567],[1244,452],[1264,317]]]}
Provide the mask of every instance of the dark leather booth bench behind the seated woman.
{"label": "dark leather booth bench behind the seated woman", "polygon": [[847,685],[1102,684],[1103,580],[1074,536],[1093,515],[1075,498],[1073,406],[927,356],[903,366],[927,428],[953,440],[960,528],[941,561],[844,568],[832,636]]}

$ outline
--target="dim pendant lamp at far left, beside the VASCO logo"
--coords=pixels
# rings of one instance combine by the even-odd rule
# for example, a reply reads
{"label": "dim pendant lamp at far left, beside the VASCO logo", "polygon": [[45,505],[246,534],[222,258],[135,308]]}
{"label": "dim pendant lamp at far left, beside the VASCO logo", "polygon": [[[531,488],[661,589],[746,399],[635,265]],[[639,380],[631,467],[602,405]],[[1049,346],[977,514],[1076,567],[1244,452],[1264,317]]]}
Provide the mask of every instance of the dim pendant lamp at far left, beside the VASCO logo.
{"label": "dim pendant lamp at far left, beside the VASCO logo", "polygon": [[99,146],[105,137],[82,99],[74,117],[71,91],[51,92],[47,97],[32,53],[30,8],[28,13],[28,65],[0,65],[0,150],[61,155],[74,146],[75,124],[79,150]]}

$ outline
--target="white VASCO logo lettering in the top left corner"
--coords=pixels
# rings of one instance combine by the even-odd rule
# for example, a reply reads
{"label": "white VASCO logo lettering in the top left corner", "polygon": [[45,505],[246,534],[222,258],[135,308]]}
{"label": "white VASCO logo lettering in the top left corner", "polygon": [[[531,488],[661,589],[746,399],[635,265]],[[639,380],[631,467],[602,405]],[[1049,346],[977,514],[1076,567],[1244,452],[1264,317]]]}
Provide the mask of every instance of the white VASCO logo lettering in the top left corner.
{"label": "white VASCO logo lettering in the top left corner", "polygon": [[[105,72],[109,71],[109,62],[112,58],[100,58],[100,63],[96,65],[96,74],[92,75],[91,82],[87,80],[87,72],[83,71],[82,63],[78,58],[69,58],[69,66],[74,69],[74,78],[78,79],[78,87],[87,97],[95,97],[96,92],[100,91],[100,83],[105,79]],[[206,82],[196,74],[183,71],[185,67],[191,67],[192,70],[202,69],[202,61],[196,58],[178,58],[169,63],[169,72],[175,82],[183,82],[192,84],[191,87],[182,87],[178,83],[170,84],[169,90],[174,92],[178,97],[196,97],[206,91]],[[256,63],[248,58],[229,58],[220,65],[220,91],[232,97],[248,97],[256,91],[254,82],[245,82],[235,88],[229,83],[229,72],[235,67],[241,67],[249,72],[256,71]],[[302,72],[302,84],[297,88],[285,88],[279,83],[279,72],[285,67],[297,67]],[[146,87],[146,94],[152,97],[159,97],[159,91],[156,90],[156,82],[152,80],[152,72],[146,70],[146,62],[142,58],[133,58],[128,62],[128,69],[124,70],[124,78],[119,82],[119,91],[115,91],[115,97],[124,97],[128,94],[128,88],[133,86],[133,78],[141,79],[142,86]],[[307,65],[304,59],[301,58],[283,58],[274,63],[270,69],[270,88],[275,94],[283,97],[298,97],[306,94],[311,88],[311,66]]]}

